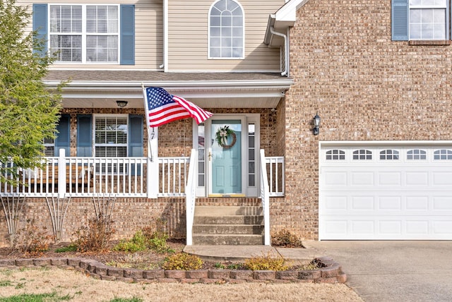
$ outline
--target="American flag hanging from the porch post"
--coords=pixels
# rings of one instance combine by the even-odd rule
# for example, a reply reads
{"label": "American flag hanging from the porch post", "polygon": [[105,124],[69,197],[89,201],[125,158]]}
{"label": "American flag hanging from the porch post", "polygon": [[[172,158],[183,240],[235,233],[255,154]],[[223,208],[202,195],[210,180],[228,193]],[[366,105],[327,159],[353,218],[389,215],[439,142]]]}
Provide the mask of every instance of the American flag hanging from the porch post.
{"label": "American flag hanging from the porch post", "polygon": [[202,123],[213,115],[183,97],[170,95],[160,87],[147,87],[143,90],[143,94],[149,127],[162,126],[187,117],[196,119],[196,123]]}

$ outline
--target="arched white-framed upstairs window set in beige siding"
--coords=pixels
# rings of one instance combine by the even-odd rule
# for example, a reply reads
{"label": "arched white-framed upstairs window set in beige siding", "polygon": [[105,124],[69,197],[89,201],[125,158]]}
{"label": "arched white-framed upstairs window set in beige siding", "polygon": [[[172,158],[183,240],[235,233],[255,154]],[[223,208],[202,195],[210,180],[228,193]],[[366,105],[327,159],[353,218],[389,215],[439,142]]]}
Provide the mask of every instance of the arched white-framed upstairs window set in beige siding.
{"label": "arched white-framed upstairs window set in beige siding", "polygon": [[244,57],[244,11],[234,0],[218,0],[209,11],[209,59]]}

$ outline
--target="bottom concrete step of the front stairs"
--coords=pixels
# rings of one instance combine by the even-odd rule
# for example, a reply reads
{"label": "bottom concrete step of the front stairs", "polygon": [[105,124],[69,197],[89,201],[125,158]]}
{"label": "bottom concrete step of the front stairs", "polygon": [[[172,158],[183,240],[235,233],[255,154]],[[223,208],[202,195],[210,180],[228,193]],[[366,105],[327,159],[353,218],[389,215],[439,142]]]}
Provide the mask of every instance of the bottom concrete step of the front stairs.
{"label": "bottom concrete step of the front stairs", "polygon": [[224,234],[213,234],[213,235],[193,235],[193,244],[197,246],[210,245],[210,246],[253,246],[264,244],[263,236],[261,235],[224,235]]}

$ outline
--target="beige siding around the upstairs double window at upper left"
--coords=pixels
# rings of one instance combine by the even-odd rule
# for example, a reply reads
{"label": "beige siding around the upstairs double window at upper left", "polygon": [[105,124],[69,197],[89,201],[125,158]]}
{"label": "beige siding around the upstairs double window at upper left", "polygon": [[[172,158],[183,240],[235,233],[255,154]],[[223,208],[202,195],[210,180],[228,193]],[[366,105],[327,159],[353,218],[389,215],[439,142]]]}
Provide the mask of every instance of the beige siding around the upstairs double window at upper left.
{"label": "beige siding around the upstairs double window at upper left", "polygon": [[[18,5],[29,5],[33,3],[54,4],[89,4],[86,0],[71,1],[18,1]],[[145,69],[160,70],[163,63],[163,4],[159,1],[108,1],[99,0],[95,4],[135,4],[135,65],[119,64],[54,64],[52,68],[78,68],[78,69]],[[31,30],[32,24],[28,30]]]}

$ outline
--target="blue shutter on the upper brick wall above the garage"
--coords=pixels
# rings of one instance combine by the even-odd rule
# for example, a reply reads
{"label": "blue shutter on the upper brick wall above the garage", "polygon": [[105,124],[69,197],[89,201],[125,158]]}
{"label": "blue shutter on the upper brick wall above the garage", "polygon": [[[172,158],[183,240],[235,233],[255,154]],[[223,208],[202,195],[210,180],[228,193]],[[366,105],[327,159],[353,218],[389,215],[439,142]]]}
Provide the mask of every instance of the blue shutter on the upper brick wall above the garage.
{"label": "blue shutter on the upper brick wall above the garage", "polygon": [[393,41],[408,41],[408,1],[391,1],[391,34]]}

